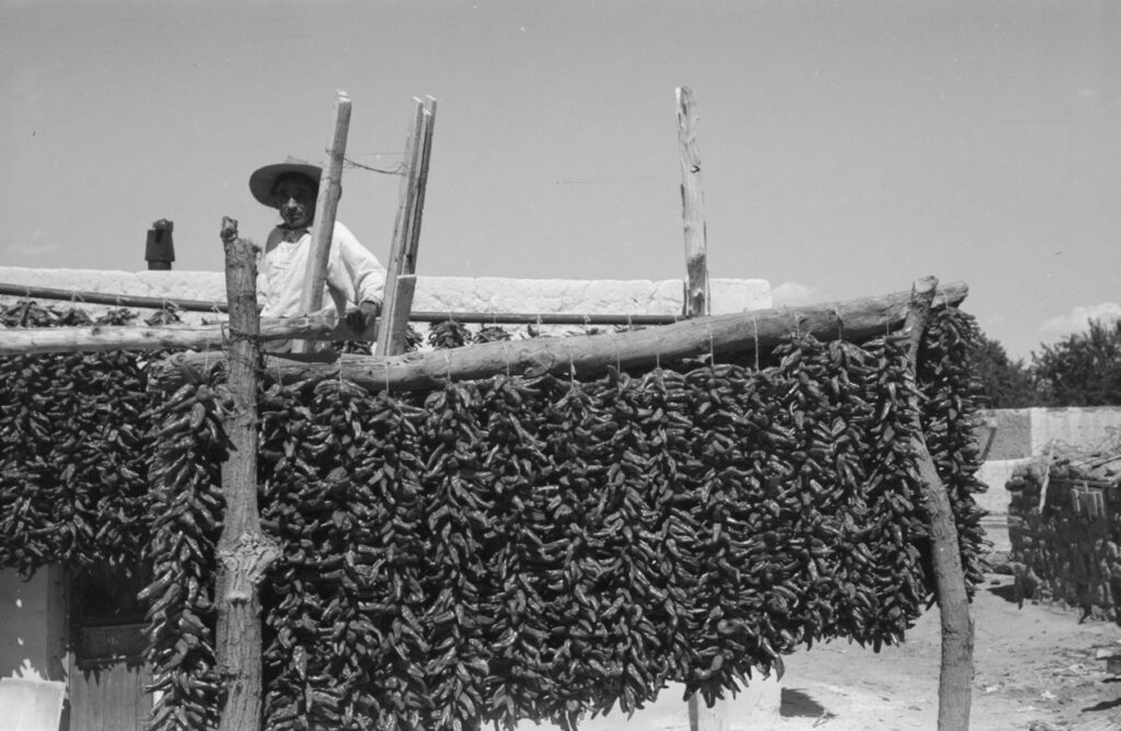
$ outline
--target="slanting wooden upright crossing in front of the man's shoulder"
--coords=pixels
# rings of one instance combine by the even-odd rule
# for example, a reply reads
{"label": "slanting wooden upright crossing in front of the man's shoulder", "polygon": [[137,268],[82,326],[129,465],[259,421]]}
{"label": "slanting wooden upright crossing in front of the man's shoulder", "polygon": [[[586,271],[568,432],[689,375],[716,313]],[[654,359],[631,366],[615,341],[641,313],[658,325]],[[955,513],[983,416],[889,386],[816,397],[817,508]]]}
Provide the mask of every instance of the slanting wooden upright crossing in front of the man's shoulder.
{"label": "slanting wooden upright crossing in front of the man's shoulder", "polygon": [[[346,154],[346,133],[350,130],[351,101],[346,92],[339,92],[335,100],[335,132],[327,150],[327,164],[319,177],[319,193],[315,200],[315,221],[312,222],[312,250],[307,257],[304,274],[304,289],[300,293],[302,313],[311,313],[323,306],[323,286],[327,279],[327,261],[331,259],[331,239],[335,231],[335,213],[339,196],[342,195],[343,157]],[[297,340],[293,351],[306,353],[307,341]]]}

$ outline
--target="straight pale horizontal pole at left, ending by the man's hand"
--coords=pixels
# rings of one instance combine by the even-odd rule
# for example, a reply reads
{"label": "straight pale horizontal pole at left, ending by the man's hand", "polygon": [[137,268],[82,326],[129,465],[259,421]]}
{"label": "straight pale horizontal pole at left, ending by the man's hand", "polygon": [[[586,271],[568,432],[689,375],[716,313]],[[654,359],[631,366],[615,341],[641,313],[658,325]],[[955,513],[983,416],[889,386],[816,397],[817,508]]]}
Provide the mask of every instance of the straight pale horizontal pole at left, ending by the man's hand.
{"label": "straight pale horizontal pole at left, ending by the man's hand", "polygon": [[[166,350],[222,348],[229,340],[229,323],[211,325],[89,325],[82,327],[0,329],[0,355],[110,350]],[[358,340],[340,322],[334,307],[303,317],[269,317],[260,322],[262,342],[305,340]]]}

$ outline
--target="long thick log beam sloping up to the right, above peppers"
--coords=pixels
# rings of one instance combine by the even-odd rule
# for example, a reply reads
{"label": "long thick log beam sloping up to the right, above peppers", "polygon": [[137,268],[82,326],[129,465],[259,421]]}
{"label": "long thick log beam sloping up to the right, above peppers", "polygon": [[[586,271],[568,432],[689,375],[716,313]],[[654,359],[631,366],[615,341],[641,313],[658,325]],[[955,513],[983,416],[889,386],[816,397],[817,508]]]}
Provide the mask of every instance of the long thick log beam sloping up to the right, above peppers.
{"label": "long thick log beam sloping up to the right, above peppers", "polygon": [[[939,288],[935,302],[956,305],[967,293],[964,283],[947,285]],[[863,342],[902,326],[909,298],[909,292],[899,292],[808,307],[711,315],[620,333],[482,343],[392,357],[342,355],[330,363],[269,358],[266,367],[270,376],[286,382],[333,378],[341,372],[370,390],[432,389],[448,380],[482,379],[507,372],[567,373],[571,368],[581,377],[591,377],[610,366],[652,368],[658,362],[710,351],[717,355],[766,351],[795,331],[823,341],[844,337]],[[174,385],[182,379],[183,369],[197,371],[219,360],[221,353],[172,355],[158,367],[164,371],[160,380],[165,387]]]}

